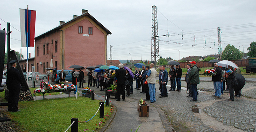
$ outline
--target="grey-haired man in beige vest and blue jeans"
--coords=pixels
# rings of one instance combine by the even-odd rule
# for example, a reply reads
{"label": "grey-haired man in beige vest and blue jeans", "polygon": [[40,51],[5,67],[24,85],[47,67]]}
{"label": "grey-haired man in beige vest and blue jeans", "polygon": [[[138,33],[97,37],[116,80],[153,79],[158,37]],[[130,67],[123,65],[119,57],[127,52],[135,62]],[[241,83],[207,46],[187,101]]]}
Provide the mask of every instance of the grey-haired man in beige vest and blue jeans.
{"label": "grey-haired man in beige vest and blue jeans", "polygon": [[155,70],[155,65],[153,63],[150,64],[150,70],[147,72],[146,80],[149,87],[149,96],[150,103],[155,102],[155,81],[157,77],[157,70]]}

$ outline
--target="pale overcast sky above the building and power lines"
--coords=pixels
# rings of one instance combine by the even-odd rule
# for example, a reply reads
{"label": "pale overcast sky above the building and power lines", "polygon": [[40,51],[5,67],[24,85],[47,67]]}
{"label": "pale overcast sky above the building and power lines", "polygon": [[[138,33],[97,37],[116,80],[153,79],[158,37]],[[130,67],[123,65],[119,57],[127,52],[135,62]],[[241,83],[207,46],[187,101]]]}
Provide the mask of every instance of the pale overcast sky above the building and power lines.
{"label": "pale overcast sky above the building and power lines", "polygon": [[[231,44],[248,52],[249,44],[256,41],[254,0],[1,0],[1,29],[7,29],[5,22],[11,23],[11,49],[22,49],[25,58],[19,8],[27,5],[37,11],[35,37],[57,27],[59,21],[81,15],[82,9],[88,10],[112,33],[108,36],[108,58],[112,45],[113,60],[151,60],[153,5],[157,6],[159,54],[163,58],[218,54],[217,27],[222,31],[222,50]],[[169,37],[163,36],[167,33]],[[33,57],[34,47],[29,52]]]}

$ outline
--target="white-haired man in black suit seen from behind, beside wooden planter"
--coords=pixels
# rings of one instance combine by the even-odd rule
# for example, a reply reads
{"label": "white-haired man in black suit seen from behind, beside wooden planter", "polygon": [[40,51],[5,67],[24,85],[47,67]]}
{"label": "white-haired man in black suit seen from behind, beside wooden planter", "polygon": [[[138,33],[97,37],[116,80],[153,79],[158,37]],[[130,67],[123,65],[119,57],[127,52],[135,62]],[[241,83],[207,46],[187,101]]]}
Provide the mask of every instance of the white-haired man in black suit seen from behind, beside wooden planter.
{"label": "white-haired man in black suit seen from behind, beside wooden planter", "polygon": [[117,100],[116,101],[120,101],[120,95],[122,94],[122,99],[124,101],[125,99],[125,93],[124,93],[124,87],[125,87],[125,75],[126,75],[126,70],[124,69],[124,65],[123,64],[119,64],[119,69],[116,70],[116,80],[117,80]]}

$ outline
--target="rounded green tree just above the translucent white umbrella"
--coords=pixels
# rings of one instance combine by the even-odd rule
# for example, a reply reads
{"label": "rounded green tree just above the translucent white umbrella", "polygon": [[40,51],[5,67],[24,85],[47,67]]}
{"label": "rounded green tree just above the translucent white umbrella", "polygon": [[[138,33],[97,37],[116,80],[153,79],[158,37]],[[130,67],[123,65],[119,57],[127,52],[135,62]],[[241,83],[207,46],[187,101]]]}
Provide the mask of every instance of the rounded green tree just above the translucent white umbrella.
{"label": "rounded green tree just above the translucent white umbrella", "polygon": [[227,45],[222,52],[222,60],[238,60],[241,59],[242,52],[239,51],[234,45]]}

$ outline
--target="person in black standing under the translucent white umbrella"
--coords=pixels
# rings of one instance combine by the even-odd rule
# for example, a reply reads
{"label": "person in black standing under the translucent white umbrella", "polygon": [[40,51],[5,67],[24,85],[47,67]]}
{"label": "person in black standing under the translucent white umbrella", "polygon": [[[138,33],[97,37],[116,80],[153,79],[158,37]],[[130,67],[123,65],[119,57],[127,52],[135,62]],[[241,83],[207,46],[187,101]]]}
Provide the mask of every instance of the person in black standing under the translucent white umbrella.
{"label": "person in black standing under the translucent white umbrella", "polygon": [[232,72],[230,74],[226,73],[226,78],[227,78],[227,84],[229,85],[229,99],[228,101],[234,101],[234,85],[232,82],[236,81],[236,72],[234,71],[233,67],[228,65],[228,67]]}

